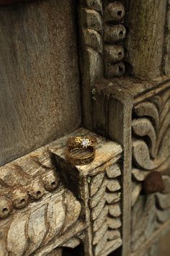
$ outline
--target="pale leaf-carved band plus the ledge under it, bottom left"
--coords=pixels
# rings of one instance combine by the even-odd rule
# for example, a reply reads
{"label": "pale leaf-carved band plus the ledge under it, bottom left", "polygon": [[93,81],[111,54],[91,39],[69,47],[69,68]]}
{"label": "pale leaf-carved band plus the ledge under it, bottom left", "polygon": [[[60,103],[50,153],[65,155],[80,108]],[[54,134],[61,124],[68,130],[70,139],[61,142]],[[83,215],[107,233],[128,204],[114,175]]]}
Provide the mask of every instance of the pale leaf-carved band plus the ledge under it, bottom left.
{"label": "pale leaf-carved band plus the ledge under it, bottom left", "polygon": [[[67,210],[66,210],[67,209]],[[48,255],[85,229],[81,203],[63,188],[1,220],[3,255]]]}

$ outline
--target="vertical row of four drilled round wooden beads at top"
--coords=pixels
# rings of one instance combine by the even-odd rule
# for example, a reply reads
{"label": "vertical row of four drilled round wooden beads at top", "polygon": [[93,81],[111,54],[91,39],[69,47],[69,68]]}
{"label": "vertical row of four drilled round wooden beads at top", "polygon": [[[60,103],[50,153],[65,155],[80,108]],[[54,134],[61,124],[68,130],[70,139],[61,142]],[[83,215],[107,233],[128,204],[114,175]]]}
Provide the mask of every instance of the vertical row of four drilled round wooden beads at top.
{"label": "vertical row of four drilled round wooden beads at top", "polygon": [[126,29],[122,24],[125,7],[120,1],[109,3],[104,7],[104,76],[122,77],[125,74],[125,49],[122,40]]}

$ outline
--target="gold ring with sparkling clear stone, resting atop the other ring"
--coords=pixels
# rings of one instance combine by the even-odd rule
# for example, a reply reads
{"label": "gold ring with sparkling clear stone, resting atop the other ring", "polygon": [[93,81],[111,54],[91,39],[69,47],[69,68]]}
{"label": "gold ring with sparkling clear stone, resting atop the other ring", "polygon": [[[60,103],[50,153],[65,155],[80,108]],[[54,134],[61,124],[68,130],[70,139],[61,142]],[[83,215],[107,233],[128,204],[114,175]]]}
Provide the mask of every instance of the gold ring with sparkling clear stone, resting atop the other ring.
{"label": "gold ring with sparkling clear stone, resting atop the other ring", "polygon": [[96,143],[97,139],[94,137],[69,137],[67,140],[67,145],[70,148],[88,148],[93,147]]}

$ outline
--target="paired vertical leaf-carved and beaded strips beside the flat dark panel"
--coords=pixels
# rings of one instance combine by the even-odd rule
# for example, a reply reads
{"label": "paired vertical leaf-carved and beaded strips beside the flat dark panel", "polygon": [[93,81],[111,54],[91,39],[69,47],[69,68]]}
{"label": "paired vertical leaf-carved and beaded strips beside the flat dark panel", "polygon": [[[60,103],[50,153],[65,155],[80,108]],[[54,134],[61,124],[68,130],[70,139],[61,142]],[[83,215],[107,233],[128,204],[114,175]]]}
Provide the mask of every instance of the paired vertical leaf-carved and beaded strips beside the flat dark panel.
{"label": "paired vertical leaf-carved and beaded strips beside the flat dark panel", "polygon": [[92,129],[91,101],[95,98],[95,82],[102,77],[121,77],[125,73],[124,17],[121,1],[80,1],[82,101],[84,125],[89,129]]}

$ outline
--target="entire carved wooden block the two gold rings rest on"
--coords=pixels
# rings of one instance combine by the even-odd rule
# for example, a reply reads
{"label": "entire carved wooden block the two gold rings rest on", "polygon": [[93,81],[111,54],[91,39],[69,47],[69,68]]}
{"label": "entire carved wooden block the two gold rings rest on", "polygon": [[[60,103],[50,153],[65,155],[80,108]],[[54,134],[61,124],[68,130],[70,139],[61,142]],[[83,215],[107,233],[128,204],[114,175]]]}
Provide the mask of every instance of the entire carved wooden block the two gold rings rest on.
{"label": "entire carved wooden block the two gold rings rest on", "polygon": [[[86,130],[82,129],[83,135]],[[96,136],[89,132],[87,135]],[[66,141],[65,138],[63,140]],[[74,169],[66,160],[65,147],[51,148],[56,169],[61,180],[76,197],[81,198],[81,215],[86,219],[88,229],[85,236],[86,255],[107,255],[122,244],[120,227],[122,226],[121,182],[122,166],[118,163],[122,148],[115,142],[97,136],[96,157],[86,166]],[[76,187],[76,189],[75,189]],[[119,200],[115,202],[115,193]],[[112,198],[107,200],[107,195]],[[116,234],[115,234],[115,231]]]}

